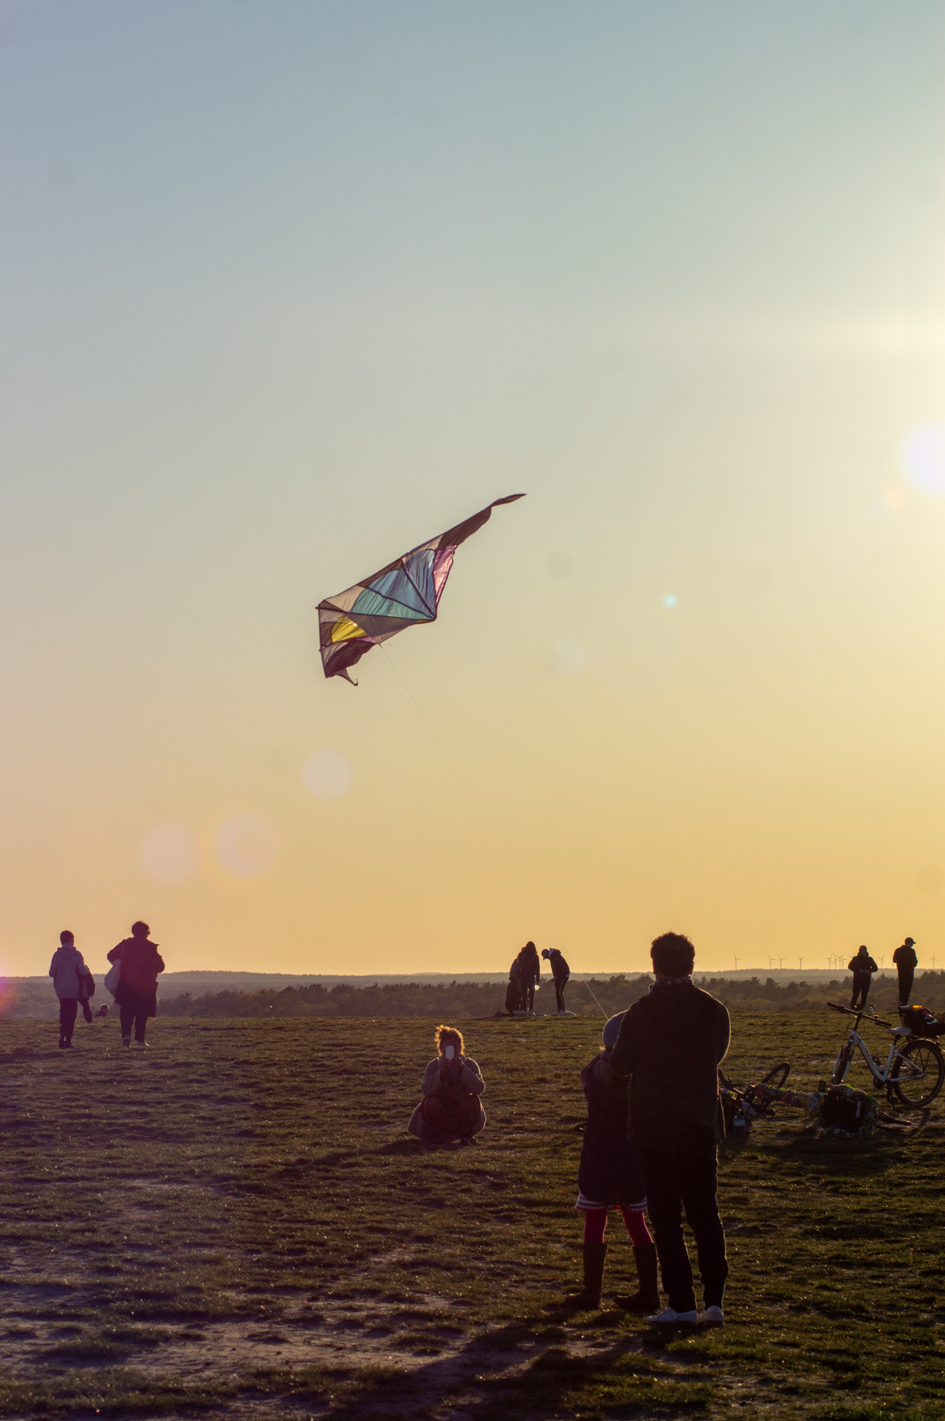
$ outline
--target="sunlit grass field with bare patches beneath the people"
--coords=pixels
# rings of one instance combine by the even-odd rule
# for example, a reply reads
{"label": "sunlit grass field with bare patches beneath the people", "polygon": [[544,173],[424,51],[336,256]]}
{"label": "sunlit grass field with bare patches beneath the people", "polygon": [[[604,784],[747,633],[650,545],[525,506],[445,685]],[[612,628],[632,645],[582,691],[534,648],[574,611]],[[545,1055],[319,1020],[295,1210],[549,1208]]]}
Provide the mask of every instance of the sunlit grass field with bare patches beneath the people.
{"label": "sunlit grass field with bare patches beneath the people", "polygon": [[[726,1071],[816,1083],[827,1017],[735,1015]],[[159,1019],[138,1052],[79,1022],[65,1053],[0,1023],[0,1415],[945,1417],[938,1101],[871,1145],[780,1110],[726,1147],[729,1322],[667,1337],[555,1307],[599,1020],[457,1023],[490,1123],[426,1152],[433,1025]]]}

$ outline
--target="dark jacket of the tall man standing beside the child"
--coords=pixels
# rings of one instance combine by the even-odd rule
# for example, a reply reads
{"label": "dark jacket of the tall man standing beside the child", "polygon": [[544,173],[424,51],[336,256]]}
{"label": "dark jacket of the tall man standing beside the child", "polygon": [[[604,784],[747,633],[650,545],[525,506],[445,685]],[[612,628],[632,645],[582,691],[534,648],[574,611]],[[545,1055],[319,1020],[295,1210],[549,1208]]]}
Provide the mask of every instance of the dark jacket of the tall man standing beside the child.
{"label": "dark jacket of the tall man standing beside the child", "polygon": [[718,1138],[718,1066],[728,1012],[685,982],[657,982],[620,1023],[613,1071],[630,1076],[630,1134],[640,1150],[694,1154]]}

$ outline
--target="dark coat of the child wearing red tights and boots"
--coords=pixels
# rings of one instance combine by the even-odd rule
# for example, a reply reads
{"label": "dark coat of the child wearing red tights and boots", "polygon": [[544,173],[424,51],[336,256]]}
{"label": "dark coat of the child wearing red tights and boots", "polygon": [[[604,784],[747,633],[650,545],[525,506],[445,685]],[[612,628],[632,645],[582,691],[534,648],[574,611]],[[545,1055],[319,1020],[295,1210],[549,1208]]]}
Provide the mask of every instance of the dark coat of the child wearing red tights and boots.
{"label": "dark coat of the child wearing red tights and boots", "polygon": [[587,1128],[580,1147],[578,1188],[604,1205],[634,1205],[646,1198],[637,1151],[627,1140],[627,1083],[600,1052],[580,1073],[587,1097]]}

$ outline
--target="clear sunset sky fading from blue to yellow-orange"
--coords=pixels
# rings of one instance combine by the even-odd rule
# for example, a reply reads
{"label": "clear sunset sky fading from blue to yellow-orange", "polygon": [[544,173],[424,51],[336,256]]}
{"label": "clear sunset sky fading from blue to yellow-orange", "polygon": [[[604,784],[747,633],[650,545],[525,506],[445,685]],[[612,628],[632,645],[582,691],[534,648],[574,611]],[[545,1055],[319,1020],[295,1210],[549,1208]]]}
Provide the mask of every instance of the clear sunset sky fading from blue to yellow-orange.
{"label": "clear sunset sky fading from blue to yellow-orange", "polygon": [[0,0],[0,972],[945,965],[941,4]]}

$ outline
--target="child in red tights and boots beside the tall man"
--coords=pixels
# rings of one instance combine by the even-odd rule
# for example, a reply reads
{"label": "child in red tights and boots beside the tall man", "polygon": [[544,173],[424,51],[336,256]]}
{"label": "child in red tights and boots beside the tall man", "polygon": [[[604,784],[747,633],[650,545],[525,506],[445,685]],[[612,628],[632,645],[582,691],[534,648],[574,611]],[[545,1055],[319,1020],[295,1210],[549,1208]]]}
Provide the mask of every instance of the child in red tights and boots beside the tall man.
{"label": "child in red tights and boots beside the tall man", "polygon": [[609,1209],[620,1209],[637,1265],[636,1293],[614,1296],[630,1313],[660,1306],[656,1243],[650,1236],[640,1161],[627,1140],[627,1083],[614,1076],[610,1060],[626,1012],[612,1016],[603,1029],[603,1047],[580,1073],[587,1097],[587,1125],[578,1165],[578,1204],[585,1215],[585,1286],[565,1299],[566,1307],[600,1307],[607,1245]]}

